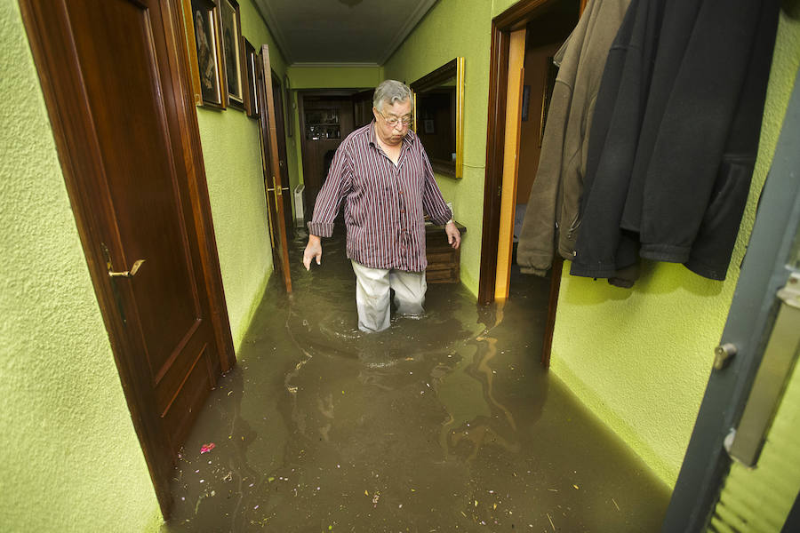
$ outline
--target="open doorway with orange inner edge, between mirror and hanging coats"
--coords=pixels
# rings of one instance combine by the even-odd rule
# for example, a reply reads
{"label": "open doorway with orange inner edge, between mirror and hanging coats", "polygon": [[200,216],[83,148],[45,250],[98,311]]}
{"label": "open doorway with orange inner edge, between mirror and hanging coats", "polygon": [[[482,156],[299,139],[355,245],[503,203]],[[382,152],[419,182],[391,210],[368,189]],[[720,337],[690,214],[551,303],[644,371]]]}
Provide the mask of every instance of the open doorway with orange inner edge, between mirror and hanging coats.
{"label": "open doorway with orange inner edge, between mirror and hanging coats", "polygon": [[[553,56],[578,22],[583,2],[522,2],[492,20],[484,235],[478,301],[530,298],[545,307],[541,363],[549,366],[562,259],[545,278],[521,274],[516,246],[539,164],[557,68]],[[539,303],[534,303],[539,302]],[[545,312],[543,310],[543,312]]]}

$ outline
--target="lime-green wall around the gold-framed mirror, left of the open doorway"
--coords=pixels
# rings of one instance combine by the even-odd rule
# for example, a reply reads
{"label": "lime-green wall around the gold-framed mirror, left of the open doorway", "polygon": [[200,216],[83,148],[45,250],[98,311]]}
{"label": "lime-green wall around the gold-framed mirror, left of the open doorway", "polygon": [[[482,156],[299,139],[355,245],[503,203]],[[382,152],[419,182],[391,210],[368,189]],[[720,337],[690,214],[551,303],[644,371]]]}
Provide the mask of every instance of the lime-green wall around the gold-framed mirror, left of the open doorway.
{"label": "lime-green wall around the gold-framed mirror, left of the open doorway", "polygon": [[477,294],[484,218],[486,119],[492,4],[485,0],[442,0],[387,61],[388,78],[409,83],[455,57],[464,58],[464,177],[437,176],[455,219],[467,227],[461,242],[461,283]]}

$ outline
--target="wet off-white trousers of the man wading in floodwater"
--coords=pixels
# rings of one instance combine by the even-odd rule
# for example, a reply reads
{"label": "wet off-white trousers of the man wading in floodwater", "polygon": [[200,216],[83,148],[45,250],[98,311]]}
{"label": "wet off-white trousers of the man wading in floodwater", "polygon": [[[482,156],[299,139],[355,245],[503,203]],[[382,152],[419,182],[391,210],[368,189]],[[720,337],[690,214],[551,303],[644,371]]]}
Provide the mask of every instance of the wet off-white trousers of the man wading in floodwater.
{"label": "wet off-white trousers of the man wading in floodwater", "polygon": [[356,273],[358,329],[368,333],[386,330],[391,319],[389,291],[395,290],[397,314],[419,316],[424,312],[428,282],[424,272],[405,272],[364,267],[350,261]]}

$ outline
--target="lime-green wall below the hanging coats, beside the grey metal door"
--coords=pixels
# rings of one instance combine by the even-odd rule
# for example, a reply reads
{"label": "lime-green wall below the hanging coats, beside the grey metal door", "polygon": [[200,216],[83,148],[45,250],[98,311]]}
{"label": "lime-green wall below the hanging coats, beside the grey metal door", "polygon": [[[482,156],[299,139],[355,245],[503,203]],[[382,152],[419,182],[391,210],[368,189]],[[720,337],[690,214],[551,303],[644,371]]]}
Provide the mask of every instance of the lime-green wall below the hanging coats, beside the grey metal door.
{"label": "lime-green wall below the hanging coats, beside the grey metal door", "polygon": [[670,486],[700,409],[800,63],[797,27],[781,18],[753,186],[727,279],[645,263],[642,279],[624,290],[572,277],[564,264],[552,369]]}

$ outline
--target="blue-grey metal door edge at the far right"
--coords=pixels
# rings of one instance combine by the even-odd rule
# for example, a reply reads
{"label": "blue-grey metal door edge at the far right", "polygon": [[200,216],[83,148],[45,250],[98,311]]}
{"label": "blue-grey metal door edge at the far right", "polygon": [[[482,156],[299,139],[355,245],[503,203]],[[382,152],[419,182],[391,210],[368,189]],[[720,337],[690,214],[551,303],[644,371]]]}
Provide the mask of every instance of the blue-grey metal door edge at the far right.
{"label": "blue-grey metal door edge at the far right", "polygon": [[[684,463],[672,492],[663,533],[705,531],[732,459],[725,437],[736,427],[748,401],[786,285],[786,267],[800,225],[800,73],[781,126],[756,223],[733,294],[720,346],[736,346],[722,370],[714,370],[700,403]],[[708,360],[711,361],[709,352]]]}

